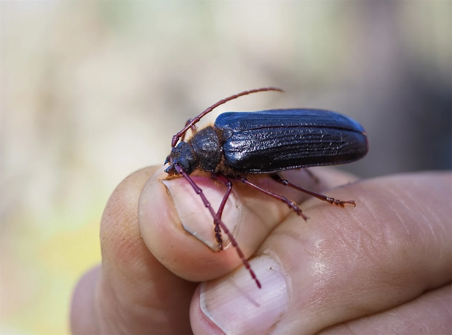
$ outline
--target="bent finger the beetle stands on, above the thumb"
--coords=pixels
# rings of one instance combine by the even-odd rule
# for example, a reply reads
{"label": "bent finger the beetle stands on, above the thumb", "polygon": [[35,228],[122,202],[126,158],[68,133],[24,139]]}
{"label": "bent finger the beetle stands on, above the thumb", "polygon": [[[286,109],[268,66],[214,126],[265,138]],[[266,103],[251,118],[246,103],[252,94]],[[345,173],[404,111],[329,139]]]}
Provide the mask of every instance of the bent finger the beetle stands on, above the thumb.
{"label": "bent finger the beetle stands on, above the thumb", "polygon": [[[237,257],[235,248],[228,244],[226,234],[223,234],[224,250],[212,252],[218,251],[218,245],[210,212],[187,180],[181,177],[168,180],[163,169],[148,181],[139,204],[141,233],[152,254],[172,272],[192,281],[218,278],[240,266],[241,260]],[[304,170],[287,171],[284,176],[314,191],[356,179],[352,175],[331,169],[318,169],[314,173],[320,183],[316,183]],[[216,184],[209,176],[192,178],[202,189],[212,208],[217,209],[226,187]],[[296,203],[309,197],[276,183],[268,175],[253,180]],[[291,211],[285,203],[240,182],[234,182],[222,221],[233,232],[245,257],[249,257]],[[309,212],[306,215],[309,216]],[[297,220],[299,224],[304,223],[301,217],[297,217]]]}

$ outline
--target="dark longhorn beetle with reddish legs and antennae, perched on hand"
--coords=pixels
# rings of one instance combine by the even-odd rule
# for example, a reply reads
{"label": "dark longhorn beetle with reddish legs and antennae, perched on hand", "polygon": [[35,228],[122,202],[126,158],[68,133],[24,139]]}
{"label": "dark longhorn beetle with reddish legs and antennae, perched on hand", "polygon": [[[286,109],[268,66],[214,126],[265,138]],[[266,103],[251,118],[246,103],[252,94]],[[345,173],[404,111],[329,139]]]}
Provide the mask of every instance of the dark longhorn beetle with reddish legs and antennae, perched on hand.
{"label": "dark longhorn beetle with reddish legs and antennae, perched on hand", "polygon": [[[356,206],[353,200],[342,201],[303,189],[283,179],[278,172],[349,163],[363,158],[368,151],[366,132],[358,122],[345,115],[322,109],[226,112],[218,116],[213,126],[209,125],[201,130],[194,127],[195,123],[217,106],[240,96],[262,91],[282,90],[267,87],[244,91],[218,101],[196,118],[188,120],[185,127],[173,136],[171,152],[164,164],[170,164],[165,170],[169,176],[182,175],[199,194],[214,219],[219,250],[223,249],[221,237],[223,231],[259,288],[261,284],[245,255],[221,221],[224,206],[232,190],[232,180],[240,181],[286,203],[306,220],[307,217],[296,203],[254,184],[246,178],[247,175],[266,174],[280,184],[331,204],[344,207],[348,203]],[[185,141],[188,129],[192,129],[193,136]],[[226,185],[227,190],[217,212],[212,209],[202,190],[190,178],[196,170],[210,172],[213,179]]]}

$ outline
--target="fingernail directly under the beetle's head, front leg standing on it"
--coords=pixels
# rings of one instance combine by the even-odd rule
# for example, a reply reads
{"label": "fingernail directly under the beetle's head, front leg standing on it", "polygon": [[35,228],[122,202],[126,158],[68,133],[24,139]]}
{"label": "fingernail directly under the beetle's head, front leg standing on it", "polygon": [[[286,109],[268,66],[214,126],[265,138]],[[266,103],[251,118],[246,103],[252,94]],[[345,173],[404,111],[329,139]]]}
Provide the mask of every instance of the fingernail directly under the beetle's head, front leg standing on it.
{"label": "fingernail directly under the beetle's head, front leg standing on it", "polygon": [[[226,193],[226,187],[216,185],[212,179],[207,177],[192,176],[192,179],[202,189],[212,208],[217,212]],[[218,251],[212,214],[205,207],[201,197],[195,193],[193,187],[184,178],[162,180],[162,183],[170,191],[184,230],[195,236],[199,241],[202,241],[213,251]],[[239,203],[234,196],[234,192],[231,192],[223,210],[221,221],[234,233],[239,216]],[[224,233],[222,233],[222,239],[224,247],[229,242],[229,239]]]}

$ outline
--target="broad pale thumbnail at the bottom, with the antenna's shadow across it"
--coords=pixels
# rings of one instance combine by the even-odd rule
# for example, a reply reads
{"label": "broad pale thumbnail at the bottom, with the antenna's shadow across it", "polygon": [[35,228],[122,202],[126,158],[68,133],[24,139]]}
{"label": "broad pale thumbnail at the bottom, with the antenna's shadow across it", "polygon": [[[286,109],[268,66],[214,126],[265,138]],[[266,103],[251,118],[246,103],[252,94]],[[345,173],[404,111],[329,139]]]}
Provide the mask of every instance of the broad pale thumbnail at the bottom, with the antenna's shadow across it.
{"label": "broad pale thumbnail at the bottom, with the antenna's shadow across it", "polygon": [[225,334],[266,334],[287,309],[287,283],[268,255],[250,260],[259,289],[244,266],[201,284],[200,307]]}

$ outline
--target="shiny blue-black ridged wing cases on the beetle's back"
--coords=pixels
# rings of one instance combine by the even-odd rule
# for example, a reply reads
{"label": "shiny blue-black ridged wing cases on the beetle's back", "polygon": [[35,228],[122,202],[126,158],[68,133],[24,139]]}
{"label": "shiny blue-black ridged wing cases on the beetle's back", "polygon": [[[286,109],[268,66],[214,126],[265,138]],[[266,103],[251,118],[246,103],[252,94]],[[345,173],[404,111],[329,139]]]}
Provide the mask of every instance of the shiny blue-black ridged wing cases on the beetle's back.
{"label": "shiny blue-black ridged wing cases on the beetle's back", "polygon": [[366,155],[363,127],[321,109],[226,112],[215,120],[227,165],[244,173],[272,173],[334,165]]}

